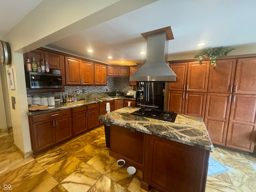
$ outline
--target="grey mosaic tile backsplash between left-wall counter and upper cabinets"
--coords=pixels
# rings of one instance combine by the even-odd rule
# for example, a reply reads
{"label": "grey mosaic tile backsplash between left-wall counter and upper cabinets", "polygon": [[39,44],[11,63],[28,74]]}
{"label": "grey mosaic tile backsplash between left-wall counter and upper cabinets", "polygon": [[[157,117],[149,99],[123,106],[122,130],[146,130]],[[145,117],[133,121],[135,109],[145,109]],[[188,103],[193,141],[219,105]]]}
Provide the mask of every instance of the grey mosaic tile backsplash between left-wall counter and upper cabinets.
{"label": "grey mosaic tile backsplash between left-wall counter and upper cabinets", "polygon": [[[65,93],[70,93],[76,91],[77,100],[114,96],[116,90],[118,92],[127,93],[128,90],[135,90],[135,86],[129,85],[129,77],[107,77],[106,86],[65,86]],[[60,98],[60,92],[55,93],[44,93],[44,94],[30,94],[33,96],[54,96],[55,98]],[[63,92],[62,92],[63,95]]]}

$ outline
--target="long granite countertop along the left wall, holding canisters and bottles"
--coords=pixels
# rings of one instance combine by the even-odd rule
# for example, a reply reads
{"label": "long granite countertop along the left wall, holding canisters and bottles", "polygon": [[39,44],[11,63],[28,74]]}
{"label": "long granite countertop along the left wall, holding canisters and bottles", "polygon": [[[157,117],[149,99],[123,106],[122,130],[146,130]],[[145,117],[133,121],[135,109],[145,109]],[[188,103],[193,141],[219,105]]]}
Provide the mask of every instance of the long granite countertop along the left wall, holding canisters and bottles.
{"label": "long granite countertop along the left wall, holding canisters and bottles", "polygon": [[40,115],[40,114],[50,113],[54,111],[60,111],[60,110],[74,108],[74,107],[80,107],[80,106],[90,105],[94,103],[101,103],[105,101],[112,101],[112,100],[134,100],[135,101],[135,98],[117,96],[117,97],[101,97],[101,98],[94,98],[94,99],[79,100],[76,102],[66,102],[63,104],[55,105],[55,107],[51,108],[50,110],[28,111],[27,115],[28,116]]}

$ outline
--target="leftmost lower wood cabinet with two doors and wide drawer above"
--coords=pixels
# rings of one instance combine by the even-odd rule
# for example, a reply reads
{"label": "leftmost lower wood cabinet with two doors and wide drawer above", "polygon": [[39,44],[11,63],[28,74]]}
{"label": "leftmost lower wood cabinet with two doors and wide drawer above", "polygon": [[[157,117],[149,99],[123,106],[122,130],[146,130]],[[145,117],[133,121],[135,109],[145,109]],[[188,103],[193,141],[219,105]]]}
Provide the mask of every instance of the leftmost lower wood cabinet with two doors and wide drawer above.
{"label": "leftmost lower wood cabinet with two doors and wide drawer above", "polygon": [[29,116],[30,138],[34,154],[72,137],[71,110]]}

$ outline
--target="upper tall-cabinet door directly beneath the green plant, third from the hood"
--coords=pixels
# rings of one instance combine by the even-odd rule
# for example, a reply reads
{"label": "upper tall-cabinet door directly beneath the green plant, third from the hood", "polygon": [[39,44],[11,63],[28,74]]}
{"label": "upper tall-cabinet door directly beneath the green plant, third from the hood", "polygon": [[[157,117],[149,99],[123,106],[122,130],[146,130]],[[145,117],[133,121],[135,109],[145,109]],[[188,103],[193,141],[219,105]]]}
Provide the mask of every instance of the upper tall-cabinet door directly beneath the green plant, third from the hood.
{"label": "upper tall-cabinet door directly beneath the green plant, third from the hood", "polygon": [[210,65],[208,92],[232,93],[236,59],[216,60],[216,66]]}

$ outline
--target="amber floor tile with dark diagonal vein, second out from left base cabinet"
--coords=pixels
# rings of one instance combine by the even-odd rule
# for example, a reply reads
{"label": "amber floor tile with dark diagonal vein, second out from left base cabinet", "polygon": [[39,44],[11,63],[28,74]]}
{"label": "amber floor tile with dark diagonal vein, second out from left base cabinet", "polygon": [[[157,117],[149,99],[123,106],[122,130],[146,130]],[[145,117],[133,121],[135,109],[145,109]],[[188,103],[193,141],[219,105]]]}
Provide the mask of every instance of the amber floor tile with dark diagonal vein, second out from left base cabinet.
{"label": "amber floor tile with dark diagonal vein, second out from left base cabinet", "polygon": [[68,156],[48,168],[47,172],[50,173],[58,182],[61,182],[83,164],[84,162],[80,161],[78,158]]}

